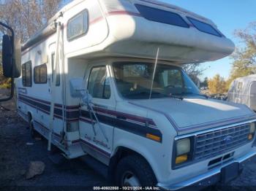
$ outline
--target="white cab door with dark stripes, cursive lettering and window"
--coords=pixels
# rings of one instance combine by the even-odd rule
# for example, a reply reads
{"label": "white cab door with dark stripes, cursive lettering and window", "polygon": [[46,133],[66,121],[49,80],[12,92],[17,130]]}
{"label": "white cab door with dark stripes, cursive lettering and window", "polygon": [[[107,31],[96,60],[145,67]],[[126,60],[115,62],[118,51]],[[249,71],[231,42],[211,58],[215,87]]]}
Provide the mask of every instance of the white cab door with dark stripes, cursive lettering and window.
{"label": "white cab door with dark stripes, cursive lettering and window", "polygon": [[[92,109],[87,105],[80,109],[80,139],[85,152],[108,163],[113,149],[113,117],[116,100],[110,82],[110,72],[106,65],[89,66],[86,87],[92,96]],[[96,114],[97,117],[94,117]]]}

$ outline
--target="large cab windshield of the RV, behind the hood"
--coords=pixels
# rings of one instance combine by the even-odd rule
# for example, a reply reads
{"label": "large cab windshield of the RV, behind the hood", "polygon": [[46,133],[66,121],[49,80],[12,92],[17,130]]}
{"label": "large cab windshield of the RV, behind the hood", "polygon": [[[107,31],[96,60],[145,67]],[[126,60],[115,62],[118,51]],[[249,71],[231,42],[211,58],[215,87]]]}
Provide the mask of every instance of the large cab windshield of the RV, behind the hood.
{"label": "large cab windshield of the RV, behind the hood", "polygon": [[[113,63],[118,92],[129,99],[148,99],[154,73],[154,63]],[[199,95],[187,74],[177,66],[157,64],[151,98],[171,95]]]}

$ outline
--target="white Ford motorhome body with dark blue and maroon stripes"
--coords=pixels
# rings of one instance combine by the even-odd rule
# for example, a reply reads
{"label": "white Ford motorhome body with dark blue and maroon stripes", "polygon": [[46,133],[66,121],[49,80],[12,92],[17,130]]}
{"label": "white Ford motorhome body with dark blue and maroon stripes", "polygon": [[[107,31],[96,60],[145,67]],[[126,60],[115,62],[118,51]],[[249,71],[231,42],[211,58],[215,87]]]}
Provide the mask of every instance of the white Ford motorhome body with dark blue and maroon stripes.
{"label": "white Ford motorhome body with dark blue and maroon stripes", "polygon": [[[148,20],[135,4],[144,6],[142,9],[163,10],[161,14],[173,12],[187,27]],[[79,28],[79,24],[75,26],[72,23],[78,17],[87,23],[87,28]],[[214,28],[211,28],[212,32],[219,36],[198,30],[188,17],[210,25]],[[58,23],[61,26],[59,36],[56,32]],[[70,23],[74,24],[73,28],[69,28]],[[68,39],[68,30],[71,36],[80,35]],[[59,52],[56,52],[57,47]],[[211,20],[159,1],[72,1],[23,44],[23,77],[16,80],[18,113],[49,139],[50,112],[53,112],[50,144],[59,147],[68,158],[89,154],[109,165],[112,172],[118,164],[117,156],[132,153],[146,160],[159,187],[176,190],[201,184],[210,176],[215,177],[211,180],[215,183],[219,181],[222,168],[235,162],[242,163],[255,155],[255,148],[252,148],[255,133],[249,140],[247,135],[242,137],[242,142],[237,144],[231,140],[232,148],[210,157],[198,154],[197,160],[181,166],[176,165],[174,156],[176,141],[190,140],[191,137],[199,140],[205,135],[214,136],[215,132],[223,132],[222,136],[230,138],[225,130],[238,130],[238,127],[248,130],[256,116],[246,106],[201,95],[186,95],[182,100],[124,98],[116,86],[113,63],[154,65],[157,49],[158,64],[178,69],[183,63],[224,58],[233,52],[234,44],[218,31]],[[58,55],[56,63],[53,54]],[[91,71],[100,66],[105,69],[110,95],[108,98],[93,97],[94,111],[91,111],[82,97],[75,96],[77,92],[74,93],[72,88],[82,79],[81,90],[89,89]],[[57,79],[59,85],[56,85]],[[145,86],[149,84],[150,81]],[[54,110],[50,110],[53,109],[51,104],[54,104]],[[215,159],[219,160],[218,163],[213,162]]]}

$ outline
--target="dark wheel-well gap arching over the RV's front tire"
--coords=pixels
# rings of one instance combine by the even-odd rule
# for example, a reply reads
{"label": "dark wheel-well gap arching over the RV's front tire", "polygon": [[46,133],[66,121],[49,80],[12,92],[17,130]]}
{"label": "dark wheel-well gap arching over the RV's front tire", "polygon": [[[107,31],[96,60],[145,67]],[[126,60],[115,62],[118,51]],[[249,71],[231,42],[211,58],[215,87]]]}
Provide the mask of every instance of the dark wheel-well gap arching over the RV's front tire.
{"label": "dark wheel-well gap arching over the RV's front tire", "polygon": [[[111,157],[110,163],[109,163],[108,180],[110,182],[113,182],[113,177],[114,177],[114,174],[116,171],[116,165],[121,160],[121,158],[126,157],[128,155],[138,155],[138,156],[142,157],[146,161],[146,163],[148,163],[148,160],[146,160],[146,158],[143,157],[143,155],[140,155],[140,153],[135,152],[132,149],[128,149],[127,147],[118,147],[116,154],[113,155],[113,157]],[[148,163],[148,165],[151,167],[151,165],[149,163]],[[153,169],[152,169],[152,171],[153,171]]]}

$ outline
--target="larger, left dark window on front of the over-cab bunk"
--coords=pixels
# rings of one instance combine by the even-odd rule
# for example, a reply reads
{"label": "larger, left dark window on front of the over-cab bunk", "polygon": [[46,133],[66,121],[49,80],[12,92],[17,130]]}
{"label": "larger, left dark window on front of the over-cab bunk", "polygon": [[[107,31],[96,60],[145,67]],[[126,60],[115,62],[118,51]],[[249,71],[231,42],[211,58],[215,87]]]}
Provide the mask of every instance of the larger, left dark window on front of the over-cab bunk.
{"label": "larger, left dark window on front of the over-cab bunk", "polygon": [[177,13],[156,9],[153,7],[147,7],[142,4],[135,4],[135,6],[137,7],[140,14],[147,20],[189,28],[189,25],[186,23],[186,21]]}

